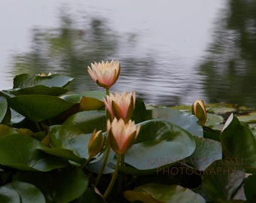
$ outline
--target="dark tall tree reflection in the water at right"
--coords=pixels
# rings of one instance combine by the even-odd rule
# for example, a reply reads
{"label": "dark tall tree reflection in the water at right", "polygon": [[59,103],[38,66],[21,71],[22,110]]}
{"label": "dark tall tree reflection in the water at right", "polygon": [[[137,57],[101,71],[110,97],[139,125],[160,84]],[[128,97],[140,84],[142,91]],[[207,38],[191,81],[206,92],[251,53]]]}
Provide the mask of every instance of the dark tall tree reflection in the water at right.
{"label": "dark tall tree reflection in the water at right", "polygon": [[230,0],[200,65],[209,102],[256,107],[256,2]]}

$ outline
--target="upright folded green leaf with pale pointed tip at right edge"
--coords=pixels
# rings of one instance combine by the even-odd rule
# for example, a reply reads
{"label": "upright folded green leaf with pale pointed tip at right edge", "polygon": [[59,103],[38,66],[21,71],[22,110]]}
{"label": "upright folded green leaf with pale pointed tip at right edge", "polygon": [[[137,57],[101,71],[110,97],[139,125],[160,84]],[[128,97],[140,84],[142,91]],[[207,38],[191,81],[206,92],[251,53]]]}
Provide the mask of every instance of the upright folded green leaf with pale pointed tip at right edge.
{"label": "upright folded green leaf with pale pointed tip at right edge", "polygon": [[239,159],[246,172],[256,171],[256,140],[246,126],[230,115],[221,132],[221,144],[224,155],[230,159]]}

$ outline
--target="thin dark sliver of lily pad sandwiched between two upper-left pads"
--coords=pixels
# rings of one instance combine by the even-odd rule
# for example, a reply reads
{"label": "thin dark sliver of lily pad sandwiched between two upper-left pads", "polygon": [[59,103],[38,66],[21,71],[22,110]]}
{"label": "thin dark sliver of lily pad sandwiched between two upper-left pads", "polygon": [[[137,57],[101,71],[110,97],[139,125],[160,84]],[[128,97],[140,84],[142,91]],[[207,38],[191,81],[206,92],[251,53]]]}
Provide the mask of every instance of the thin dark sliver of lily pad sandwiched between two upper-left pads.
{"label": "thin dark sliver of lily pad sandwiched between two upper-left pads", "polygon": [[43,86],[43,85],[37,85],[37,86],[29,86],[24,88],[16,88],[16,89],[8,89],[3,90],[4,92],[8,92],[12,95],[63,95],[66,92],[68,92],[67,89],[59,86]]}

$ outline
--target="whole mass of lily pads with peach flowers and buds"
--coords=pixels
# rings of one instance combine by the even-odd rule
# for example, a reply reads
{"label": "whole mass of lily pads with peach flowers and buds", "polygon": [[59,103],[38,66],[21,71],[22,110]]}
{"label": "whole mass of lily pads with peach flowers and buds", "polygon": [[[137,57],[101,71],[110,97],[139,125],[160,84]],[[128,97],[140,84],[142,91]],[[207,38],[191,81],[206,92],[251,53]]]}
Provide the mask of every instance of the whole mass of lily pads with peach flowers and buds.
{"label": "whole mass of lily pads with peach flowers and buds", "polygon": [[239,110],[111,93],[119,62],[88,73],[105,91],[69,93],[71,77],[19,74],[0,92],[0,202],[254,201],[254,126]]}

